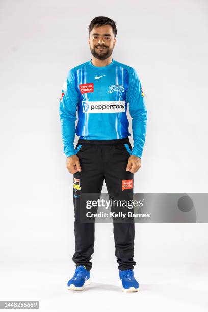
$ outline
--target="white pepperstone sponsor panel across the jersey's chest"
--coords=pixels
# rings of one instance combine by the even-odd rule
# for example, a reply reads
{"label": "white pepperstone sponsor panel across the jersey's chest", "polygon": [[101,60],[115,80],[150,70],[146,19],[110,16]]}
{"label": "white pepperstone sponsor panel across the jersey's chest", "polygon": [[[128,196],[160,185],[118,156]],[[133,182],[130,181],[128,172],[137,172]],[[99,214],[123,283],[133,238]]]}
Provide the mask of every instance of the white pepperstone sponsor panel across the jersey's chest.
{"label": "white pepperstone sponsor panel across the jersey's chest", "polygon": [[124,113],[125,101],[82,101],[83,113]]}

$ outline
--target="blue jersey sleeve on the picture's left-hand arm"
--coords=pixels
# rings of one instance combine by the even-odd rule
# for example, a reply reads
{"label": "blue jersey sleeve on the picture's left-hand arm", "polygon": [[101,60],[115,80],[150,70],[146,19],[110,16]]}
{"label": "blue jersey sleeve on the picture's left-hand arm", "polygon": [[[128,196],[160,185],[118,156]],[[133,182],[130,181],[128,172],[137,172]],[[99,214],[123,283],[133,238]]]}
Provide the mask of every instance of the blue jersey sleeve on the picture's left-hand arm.
{"label": "blue jersey sleeve on the picture's left-hand arm", "polygon": [[64,144],[64,153],[67,157],[76,154],[74,149],[74,137],[77,102],[78,93],[75,88],[74,74],[69,70],[62,87],[59,106],[62,141]]}

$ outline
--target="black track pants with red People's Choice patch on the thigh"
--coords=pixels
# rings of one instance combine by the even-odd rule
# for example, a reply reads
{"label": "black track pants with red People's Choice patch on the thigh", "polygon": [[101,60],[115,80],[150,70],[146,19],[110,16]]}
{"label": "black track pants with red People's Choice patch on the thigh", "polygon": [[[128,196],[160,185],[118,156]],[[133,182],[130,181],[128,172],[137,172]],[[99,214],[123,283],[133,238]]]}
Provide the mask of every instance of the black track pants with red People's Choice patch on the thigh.
{"label": "black track pants with red People's Choice patch on the thigh", "polygon": [[[110,196],[112,199],[113,197],[118,199],[118,196],[122,200],[129,200],[129,196],[130,199],[133,199],[134,174],[126,171],[132,146],[128,138],[117,140],[79,139],[76,145],[77,149],[79,150],[76,155],[80,159],[82,171],[73,175],[75,253],[72,259],[76,266],[84,265],[87,270],[90,270],[92,267],[91,255],[94,252],[95,224],[80,221],[79,209],[82,207],[80,207],[79,195],[81,192],[101,193],[105,180],[109,199]],[[126,189],[124,189],[124,184],[127,185]],[[134,222],[114,222],[113,227],[118,269],[133,269],[136,265],[133,259]]]}

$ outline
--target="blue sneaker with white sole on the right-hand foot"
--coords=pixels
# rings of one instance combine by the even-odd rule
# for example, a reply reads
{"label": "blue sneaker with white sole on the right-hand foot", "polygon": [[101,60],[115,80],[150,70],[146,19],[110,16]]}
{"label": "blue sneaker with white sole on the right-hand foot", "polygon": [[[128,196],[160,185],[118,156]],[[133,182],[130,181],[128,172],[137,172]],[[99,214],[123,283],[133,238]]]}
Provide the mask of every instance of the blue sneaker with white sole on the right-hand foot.
{"label": "blue sneaker with white sole on the right-hand foot", "polygon": [[132,269],[119,270],[119,277],[122,282],[123,292],[137,292],[139,290],[139,283],[136,281]]}

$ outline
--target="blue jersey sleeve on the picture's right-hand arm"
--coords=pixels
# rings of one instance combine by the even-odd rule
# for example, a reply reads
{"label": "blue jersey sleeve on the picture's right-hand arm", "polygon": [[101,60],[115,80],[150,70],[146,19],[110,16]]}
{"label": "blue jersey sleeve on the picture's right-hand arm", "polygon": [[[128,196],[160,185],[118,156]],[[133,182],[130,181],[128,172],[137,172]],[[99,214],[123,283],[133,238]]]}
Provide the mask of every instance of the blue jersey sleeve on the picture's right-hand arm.
{"label": "blue jersey sleeve on the picture's right-hand arm", "polygon": [[127,101],[129,103],[129,113],[132,117],[132,132],[134,140],[132,155],[141,158],[146,136],[147,109],[142,86],[135,69],[133,69],[132,74],[129,76]]}

